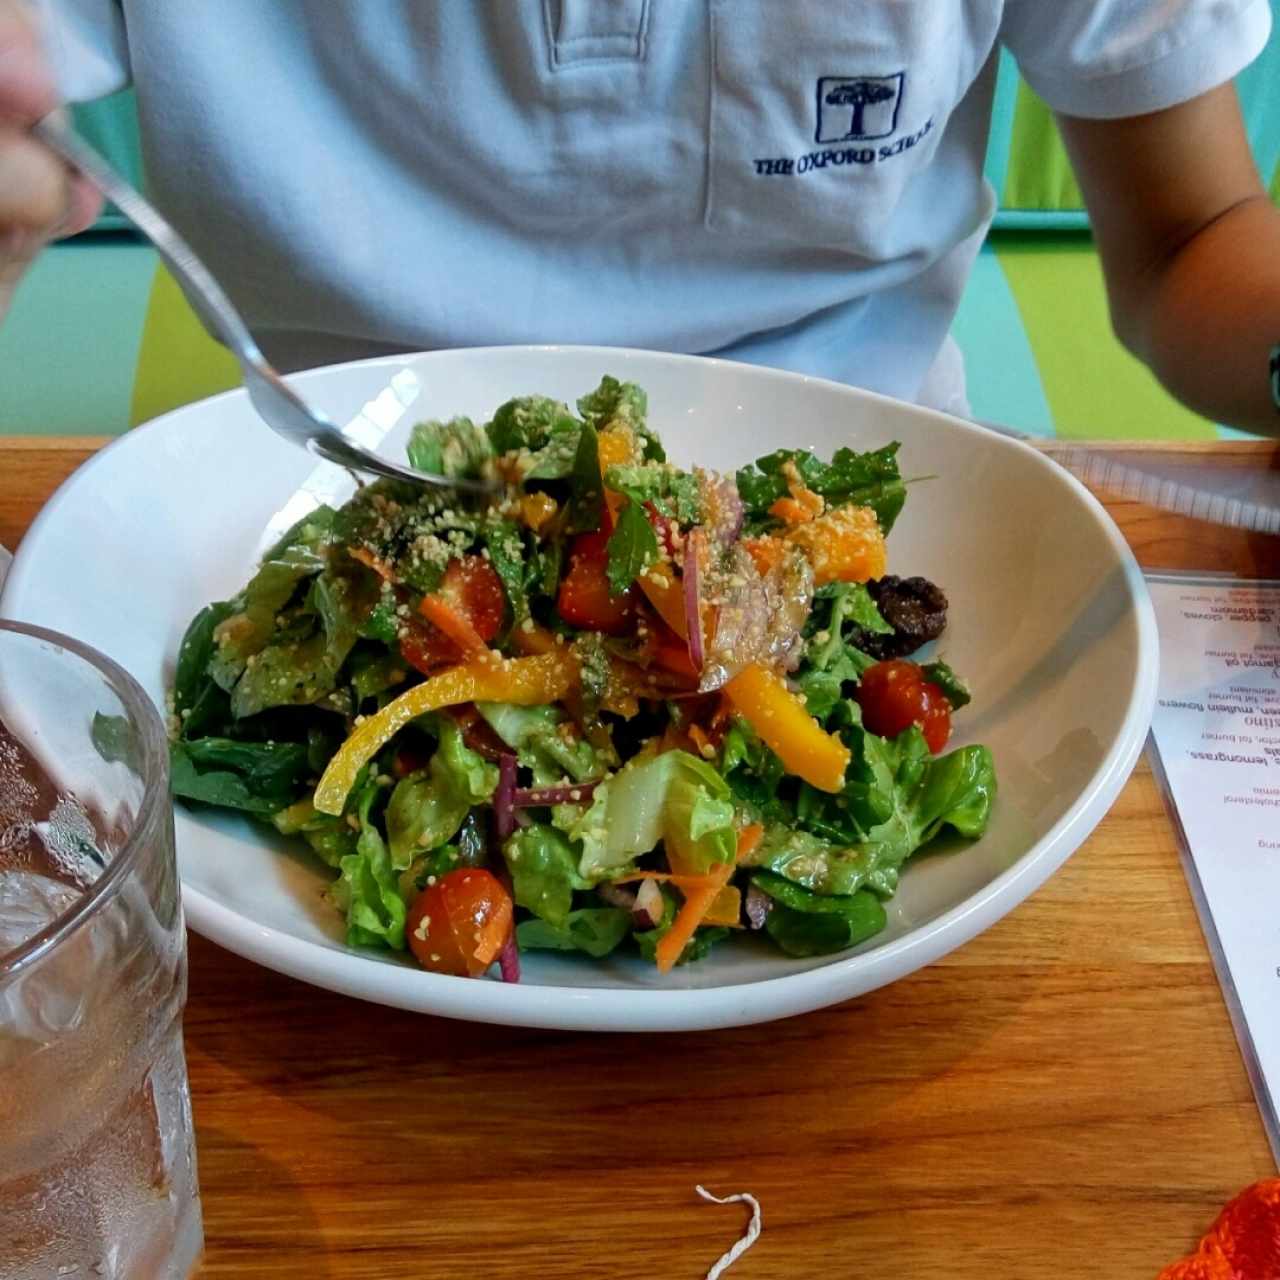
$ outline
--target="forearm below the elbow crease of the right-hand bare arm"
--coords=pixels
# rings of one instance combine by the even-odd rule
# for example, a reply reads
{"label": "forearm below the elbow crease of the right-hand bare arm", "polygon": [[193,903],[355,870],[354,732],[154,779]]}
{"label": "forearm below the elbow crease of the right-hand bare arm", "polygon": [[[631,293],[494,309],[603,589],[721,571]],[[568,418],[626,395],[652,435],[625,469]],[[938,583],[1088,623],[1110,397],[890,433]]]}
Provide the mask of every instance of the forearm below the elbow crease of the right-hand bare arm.
{"label": "forearm below the elbow crease of the right-hand bare arm", "polygon": [[1206,417],[1280,435],[1268,371],[1280,344],[1280,210],[1244,201],[1153,265],[1116,332]]}

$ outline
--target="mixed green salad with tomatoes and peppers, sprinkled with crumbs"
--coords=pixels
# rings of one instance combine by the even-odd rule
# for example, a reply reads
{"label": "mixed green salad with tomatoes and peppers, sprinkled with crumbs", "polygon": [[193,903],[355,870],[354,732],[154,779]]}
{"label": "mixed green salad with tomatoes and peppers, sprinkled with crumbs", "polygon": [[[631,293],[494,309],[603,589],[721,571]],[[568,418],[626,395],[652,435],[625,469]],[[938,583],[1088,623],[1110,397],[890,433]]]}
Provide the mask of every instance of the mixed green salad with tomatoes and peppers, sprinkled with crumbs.
{"label": "mixed green salad with tomatoes and peppers, sprinkled with crumbs", "polygon": [[202,609],[174,792],[305,842],[351,946],[439,973],[855,946],[996,791],[945,750],[966,686],[911,658],[947,600],[887,572],[896,452],[684,470],[613,378],[422,422],[411,465],[493,493],[365,485]]}

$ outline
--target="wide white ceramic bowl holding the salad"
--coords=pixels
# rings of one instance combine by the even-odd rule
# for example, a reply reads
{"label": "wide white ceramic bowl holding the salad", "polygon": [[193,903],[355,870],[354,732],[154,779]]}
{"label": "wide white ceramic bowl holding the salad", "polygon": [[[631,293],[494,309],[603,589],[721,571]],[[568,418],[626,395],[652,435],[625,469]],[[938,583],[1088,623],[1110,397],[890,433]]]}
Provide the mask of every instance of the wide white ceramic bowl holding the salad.
{"label": "wide white ceramic bowl holding the salad", "polygon": [[[901,440],[919,476],[890,538],[890,567],[951,600],[940,652],[973,686],[955,745],[995,753],[986,836],[908,864],[888,927],[864,946],[791,960],[735,937],[659,977],[634,956],[524,957],[518,986],[424,973],[348,950],[321,901],[329,873],[232,815],[178,806],[178,860],[195,929],[306,982],[403,1009],[575,1029],[730,1027],[817,1009],[919,969],[998,920],[1051,876],[1106,813],[1147,733],[1156,626],[1128,547],[1093,497],[1034,449],[940,413],[835,383],[717,360],[616,348],[515,347],[362,361],[298,375],[335,420],[385,426],[399,374],[421,387],[384,448],[420,417],[488,416],[540,392],[572,402],[603,374],[643,385],[678,462],[732,468],[772,449]],[[415,378],[416,375],[416,378]],[[385,412],[390,407],[390,412]],[[315,462],[273,435],[243,392],[178,410],[104,449],[36,520],[0,613],[78,636],[164,704],[178,641],[210,600],[243,584],[262,530]]]}

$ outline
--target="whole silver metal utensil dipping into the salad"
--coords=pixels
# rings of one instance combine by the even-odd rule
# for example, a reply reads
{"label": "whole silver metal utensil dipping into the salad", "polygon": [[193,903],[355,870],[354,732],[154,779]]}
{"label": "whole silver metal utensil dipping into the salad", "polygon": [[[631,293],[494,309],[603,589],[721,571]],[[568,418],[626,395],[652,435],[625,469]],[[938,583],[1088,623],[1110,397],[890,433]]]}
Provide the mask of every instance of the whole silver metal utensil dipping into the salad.
{"label": "whole silver metal utensil dipping into the salad", "polygon": [[83,138],[68,128],[59,113],[46,115],[32,133],[93,183],[151,243],[182,283],[187,298],[206,325],[239,361],[244,388],[262,421],[284,439],[339,466],[367,475],[389,476],[438,489],[490,493],[481,480],[415,471],[348,440],[319,410],[312,408],[268,364],[248,326],[221,285],[191,246],[138,191],[125,182]]}

